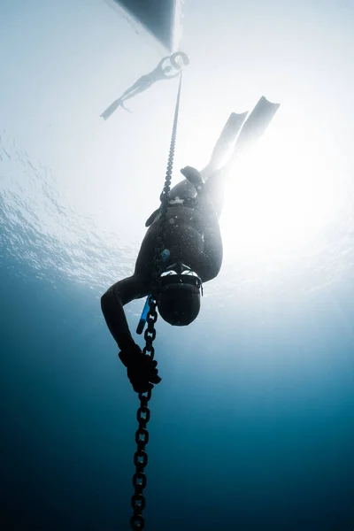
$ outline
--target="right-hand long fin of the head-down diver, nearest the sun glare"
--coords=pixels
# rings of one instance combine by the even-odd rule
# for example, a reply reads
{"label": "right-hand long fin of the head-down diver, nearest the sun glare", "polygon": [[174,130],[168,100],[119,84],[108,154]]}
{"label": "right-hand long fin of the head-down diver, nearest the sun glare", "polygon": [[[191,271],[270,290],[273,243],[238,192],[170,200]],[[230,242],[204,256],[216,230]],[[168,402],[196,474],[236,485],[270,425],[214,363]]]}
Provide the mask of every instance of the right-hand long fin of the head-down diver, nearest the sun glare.
{"label": "right-hand long fin of the head-down diver, nearest the sun glare", "polygon": [[271,123],[275,112],[278,111],[281,104],[272,104],[268,102],[265,96],[262,96],[255,106],[250,116],[243,124],[241,133],[237,138],[233,159],[244,148],[250,148],[266,132],[266,128]]}

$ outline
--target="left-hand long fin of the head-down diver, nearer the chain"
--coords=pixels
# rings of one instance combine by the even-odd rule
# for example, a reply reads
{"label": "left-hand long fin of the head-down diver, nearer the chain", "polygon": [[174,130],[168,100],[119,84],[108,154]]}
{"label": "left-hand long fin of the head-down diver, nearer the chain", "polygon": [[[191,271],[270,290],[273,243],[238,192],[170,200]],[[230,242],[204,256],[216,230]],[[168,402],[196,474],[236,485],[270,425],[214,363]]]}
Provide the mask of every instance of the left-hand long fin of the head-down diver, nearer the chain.
{"label": "left-hand long fin of the head-down diver, nearer the chain", "polygon": [[215,170],[217,170],[223,163],[223,160],[227,155],[227,151],[235,142],[236,136],[239,134],[242,123],[244,122],[247,114],[248,112],[242,112],[240,114],[232,112],[228,117],[227,123],[222,129],[219,139],[212,150],[212,157],[209,163],[201,171],[204,181],[208,178],[210,173],[215,172]]}

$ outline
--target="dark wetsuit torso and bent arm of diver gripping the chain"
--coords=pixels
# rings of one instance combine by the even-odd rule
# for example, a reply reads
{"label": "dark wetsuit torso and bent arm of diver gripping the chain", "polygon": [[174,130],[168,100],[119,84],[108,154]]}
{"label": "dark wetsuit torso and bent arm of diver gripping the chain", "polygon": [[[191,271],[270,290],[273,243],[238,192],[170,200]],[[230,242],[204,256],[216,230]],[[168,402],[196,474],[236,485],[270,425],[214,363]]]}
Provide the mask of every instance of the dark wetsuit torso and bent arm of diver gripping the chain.
{"label": "dark wetsuit torso and bent arm of diver gripping the chain", "polygon": [[[217,196],[215,202],[212,201],[212,190],[215,189],[216,181],[218,188],[221,188],[221,173],[222,170],[215,172],[196,197],[191,198],[190,194],[187,194],[182,204],[170,200],[171,204],[166,213],[164,245],[165,249],[170,251],[170,257],[165,266],[181,260],[196,272],[203,282],[211,281],[217,276],[222,262],[219,231],[221,205],[216,200]],[[171,196],[174,196],[173,189]],[[134,344],[123,306],[134,299],[149,295],[150,292],[158,223],[159,216],[152,222],[142,241],[134,274],[113,284],[101,299],[104,319],[120,350],[126,350]]]}

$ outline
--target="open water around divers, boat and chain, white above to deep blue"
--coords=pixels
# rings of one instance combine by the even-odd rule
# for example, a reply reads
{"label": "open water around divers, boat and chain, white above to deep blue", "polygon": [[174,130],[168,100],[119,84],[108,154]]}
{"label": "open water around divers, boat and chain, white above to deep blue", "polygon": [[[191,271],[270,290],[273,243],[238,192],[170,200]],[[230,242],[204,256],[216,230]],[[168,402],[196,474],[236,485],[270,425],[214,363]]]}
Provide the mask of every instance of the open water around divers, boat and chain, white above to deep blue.
{"label": "open water around divers, boat and chain, white above to deep blue", "polygon": [[[184,11],[173,182],[230,112],[281,109],[230,183],[198,319],[158,319],[145,528],[351,531],[353,7]],[[0,25],[1,528],[128,529],[138,397],[100,296],[158,205],[177,82],[104,122],[163,57],[150,37],[98,0],[4,3]]]}

